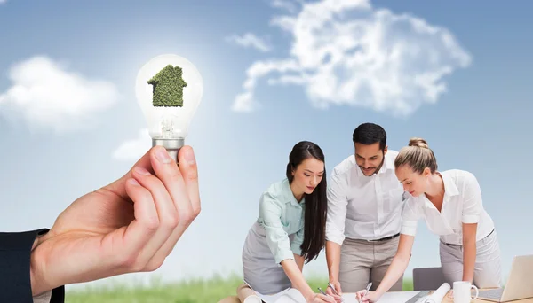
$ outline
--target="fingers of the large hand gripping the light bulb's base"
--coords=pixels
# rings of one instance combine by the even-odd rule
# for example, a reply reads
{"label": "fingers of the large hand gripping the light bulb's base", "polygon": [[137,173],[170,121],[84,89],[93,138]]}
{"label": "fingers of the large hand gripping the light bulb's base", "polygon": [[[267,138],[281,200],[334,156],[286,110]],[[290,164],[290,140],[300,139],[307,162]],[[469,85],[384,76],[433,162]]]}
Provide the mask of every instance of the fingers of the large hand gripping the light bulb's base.
{"label": "fingers of the large hand gripping the light bulb's base", "polygon": [[155,146],[106,188],[134,202],[135,220],[123,234],[128,252],[120,257],[127,271],[159,268],[200,213],[198,172],[190,146],[179,151],[179,167],[162,146]]}

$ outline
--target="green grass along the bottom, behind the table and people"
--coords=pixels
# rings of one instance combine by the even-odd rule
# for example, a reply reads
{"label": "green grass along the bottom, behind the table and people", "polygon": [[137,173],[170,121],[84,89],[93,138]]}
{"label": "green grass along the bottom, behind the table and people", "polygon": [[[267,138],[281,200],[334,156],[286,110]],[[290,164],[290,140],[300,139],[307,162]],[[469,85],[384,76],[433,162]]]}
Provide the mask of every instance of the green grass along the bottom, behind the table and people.
{"label": "green grass along the bottom, behind the table and people", "polygon": [[[406,279],[407,280],[407,279]],[[115,284],[106,287],[86,287],[69,291],[67,303],[216,303],[220,299],[235,295],[235,289],[243,281],[240,276],[229,278],[213,277],[208,280],[191,280],[174,284],[153,283],[150,286]],[[328,280],[309,280],[313,289],[326,288]],[[412,291],[412,282],[404,281],[404,291]]]}

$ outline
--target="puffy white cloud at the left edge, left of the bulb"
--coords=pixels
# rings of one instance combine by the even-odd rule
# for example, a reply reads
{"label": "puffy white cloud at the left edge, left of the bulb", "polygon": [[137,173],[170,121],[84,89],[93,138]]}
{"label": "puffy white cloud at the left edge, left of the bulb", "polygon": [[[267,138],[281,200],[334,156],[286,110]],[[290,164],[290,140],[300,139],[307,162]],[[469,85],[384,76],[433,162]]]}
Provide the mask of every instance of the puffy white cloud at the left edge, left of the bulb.
{"label": "puffy white cloud at the left edge, left of the bulb", "polygon": [[115,105],[115,85],[68,71],[46,57],[12,66],[12,86],[0,93],[0,116],[24,120],[31,129],[72,133],[97,123],[97,115]]}

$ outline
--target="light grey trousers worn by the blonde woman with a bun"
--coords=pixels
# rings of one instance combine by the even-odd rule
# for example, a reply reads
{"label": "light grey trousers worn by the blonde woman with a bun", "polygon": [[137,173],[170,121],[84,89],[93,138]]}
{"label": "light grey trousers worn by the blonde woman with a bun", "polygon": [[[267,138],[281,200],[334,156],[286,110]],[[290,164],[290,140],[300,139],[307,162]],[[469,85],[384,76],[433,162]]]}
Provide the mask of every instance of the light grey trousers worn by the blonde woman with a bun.
{"label": "light grey trousers worn by the blonde woman with a bun", "polygon": [[[463,246],[440,243],[442,274],[452,285],[463,279]],[[473,284],[479,288],[502,286],[502,264],[496,230],[476,242]]]}

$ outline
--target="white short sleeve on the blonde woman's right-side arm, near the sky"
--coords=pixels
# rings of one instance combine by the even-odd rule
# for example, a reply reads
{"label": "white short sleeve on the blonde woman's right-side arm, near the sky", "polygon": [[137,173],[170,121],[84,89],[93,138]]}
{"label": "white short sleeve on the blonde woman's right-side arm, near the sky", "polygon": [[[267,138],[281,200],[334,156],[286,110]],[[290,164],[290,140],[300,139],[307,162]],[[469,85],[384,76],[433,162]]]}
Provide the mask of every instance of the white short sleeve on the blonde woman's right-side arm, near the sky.
{"label": "white short sleeve on the blonde woman's right-side arm, near the sky", "polygon": [[475,176],[471,173],[465,175],[463,185],[463,223],[477,223],[481,214],[481,188]]}

